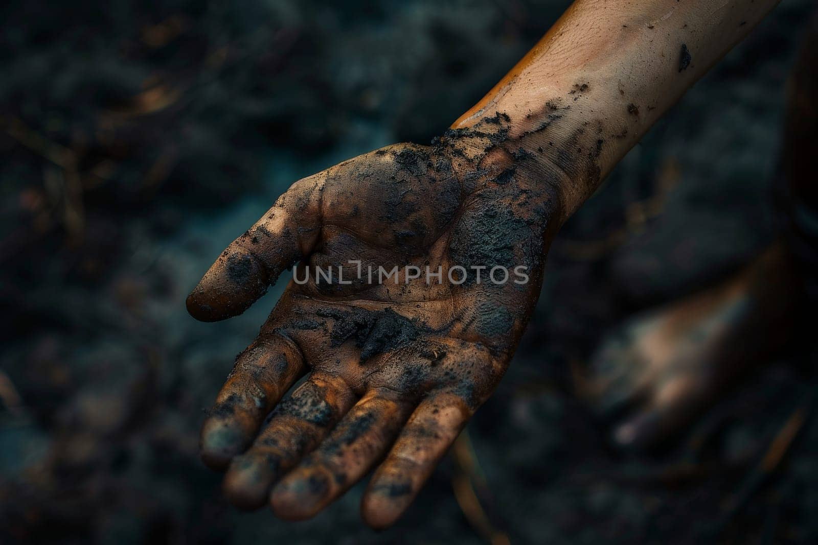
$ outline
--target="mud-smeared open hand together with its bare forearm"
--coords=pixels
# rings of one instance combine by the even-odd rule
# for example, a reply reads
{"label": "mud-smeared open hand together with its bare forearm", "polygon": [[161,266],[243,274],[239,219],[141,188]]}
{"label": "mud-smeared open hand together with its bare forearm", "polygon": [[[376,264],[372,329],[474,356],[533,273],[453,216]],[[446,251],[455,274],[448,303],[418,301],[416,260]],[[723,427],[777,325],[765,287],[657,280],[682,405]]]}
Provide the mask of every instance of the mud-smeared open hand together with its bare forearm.
{"label": "mud-smeared open hand together with its bare forearm", "polygon": [[298,262],[524,266],[530,279],[291,282],[202,428],[227,497],[304,519],[383,460],[362,516],[397,520],[500,381],[564,220],[775,3],[576,2],[434,145],[296,182],[194,288],[191,315],[240,314]]}

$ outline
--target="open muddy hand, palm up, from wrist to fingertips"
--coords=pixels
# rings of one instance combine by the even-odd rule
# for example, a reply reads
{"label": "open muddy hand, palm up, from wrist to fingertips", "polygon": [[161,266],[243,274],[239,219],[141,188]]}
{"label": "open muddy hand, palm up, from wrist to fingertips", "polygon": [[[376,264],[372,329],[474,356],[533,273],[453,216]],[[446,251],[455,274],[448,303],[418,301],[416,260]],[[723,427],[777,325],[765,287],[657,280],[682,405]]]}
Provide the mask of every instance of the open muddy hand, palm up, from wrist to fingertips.
{"label": "open muddy hand, palm up, from wrist to fingertips", "polygon": [[[551,178],[499,145],[500,125],[497,114],[433,146],[391,145],[296,182],[188,297],[197,319],[225,319],[283,270],[300,262],[299,281],[309,270],[238,356],[202,428],[202,458],[227,469],[232,503],[308,518],[383,459],[362,516],[389,526],[491,395],[559,217]],[[395,266],[397,284],[378,282],[379,267]],[[438,266],[442,281],[427,282]],[[328,267],[331,283],[314,272]]]}

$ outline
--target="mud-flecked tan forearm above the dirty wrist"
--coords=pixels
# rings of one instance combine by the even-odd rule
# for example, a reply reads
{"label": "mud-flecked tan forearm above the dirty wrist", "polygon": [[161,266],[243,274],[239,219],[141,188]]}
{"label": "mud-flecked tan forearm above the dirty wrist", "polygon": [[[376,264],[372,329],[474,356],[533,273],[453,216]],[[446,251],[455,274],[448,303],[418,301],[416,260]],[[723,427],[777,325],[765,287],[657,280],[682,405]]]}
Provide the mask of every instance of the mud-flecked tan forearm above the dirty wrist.
{"label": "mud-flecked tan forearm above the dirty wrist", "polygon": [[578,0],[452,128],[502,126],[496,144],[560,178],[564,219],[778,1]]}

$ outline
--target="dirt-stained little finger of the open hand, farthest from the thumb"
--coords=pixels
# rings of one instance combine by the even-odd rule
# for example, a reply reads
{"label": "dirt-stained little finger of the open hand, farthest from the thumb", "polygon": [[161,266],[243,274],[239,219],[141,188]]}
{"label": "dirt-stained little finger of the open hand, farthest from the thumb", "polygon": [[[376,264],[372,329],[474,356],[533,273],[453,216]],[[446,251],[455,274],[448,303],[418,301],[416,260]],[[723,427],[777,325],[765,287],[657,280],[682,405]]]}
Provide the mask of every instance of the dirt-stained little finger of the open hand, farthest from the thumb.
{"label": "dirt-stained little finger of the open hand, farthest from the thumb", "polygon": [[465,400],[451,393],[433,395],[418,406],[363,495],[367,525],[383,529],[398,520],[472,413]]}

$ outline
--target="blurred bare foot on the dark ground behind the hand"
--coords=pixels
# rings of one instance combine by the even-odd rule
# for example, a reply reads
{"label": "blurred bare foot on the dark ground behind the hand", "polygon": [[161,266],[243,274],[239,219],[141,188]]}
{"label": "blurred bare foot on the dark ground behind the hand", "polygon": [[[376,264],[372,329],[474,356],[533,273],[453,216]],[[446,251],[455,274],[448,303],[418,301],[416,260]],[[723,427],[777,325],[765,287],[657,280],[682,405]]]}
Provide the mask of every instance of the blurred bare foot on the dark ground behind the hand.
{"label": "blurred bare foot on the dark ground behind the hand", "polygon": [[654,449],[792,336],[798,277],[780,245],[702,293],[629,320],[591,360],[578,389],[612,439]]}

